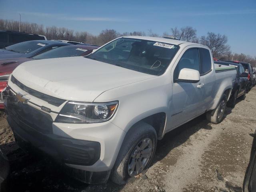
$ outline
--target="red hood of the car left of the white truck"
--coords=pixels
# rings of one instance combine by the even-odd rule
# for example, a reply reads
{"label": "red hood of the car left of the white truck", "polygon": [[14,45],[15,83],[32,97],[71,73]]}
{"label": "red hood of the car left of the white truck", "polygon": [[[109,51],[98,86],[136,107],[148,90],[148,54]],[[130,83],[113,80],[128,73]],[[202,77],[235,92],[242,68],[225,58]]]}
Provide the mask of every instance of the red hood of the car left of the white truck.
{"label": "red hood of the car left of the white truck", "polygon": [[26,61],[33,60],[32,58],[12,58],[0,60],[0,74],[11,74],[12,71],[20,64]]}

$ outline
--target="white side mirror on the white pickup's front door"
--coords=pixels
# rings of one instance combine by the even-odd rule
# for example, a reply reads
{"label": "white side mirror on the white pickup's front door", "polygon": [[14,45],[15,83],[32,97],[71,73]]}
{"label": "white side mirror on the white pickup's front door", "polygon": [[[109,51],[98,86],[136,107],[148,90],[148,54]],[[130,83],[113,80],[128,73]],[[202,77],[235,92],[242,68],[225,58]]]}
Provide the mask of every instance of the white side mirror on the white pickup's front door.
{"label": "white side mirror on the white pickup's front door", "polygon": [[183,68],[180,70],[178,82],[197,83],[200,81],[199,71],[194,69]]}

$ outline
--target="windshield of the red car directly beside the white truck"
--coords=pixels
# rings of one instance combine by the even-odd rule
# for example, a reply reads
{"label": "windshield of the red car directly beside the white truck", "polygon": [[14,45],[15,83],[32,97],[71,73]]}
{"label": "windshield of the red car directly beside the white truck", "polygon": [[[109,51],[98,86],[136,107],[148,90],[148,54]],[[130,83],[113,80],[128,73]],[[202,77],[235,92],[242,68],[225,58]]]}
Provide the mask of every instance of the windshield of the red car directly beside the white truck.
{"label": "windshield of the red car directly beside the white truck", "polygon": [[44,52],[32,58],[33,59],[49,59],[49,58],[60,58],[60,57],[75,57],[75,56],[81,56],[86,51],[87,49],[70,45],[70,46],[63,46],[60,48],[56,48],[56,49]]}

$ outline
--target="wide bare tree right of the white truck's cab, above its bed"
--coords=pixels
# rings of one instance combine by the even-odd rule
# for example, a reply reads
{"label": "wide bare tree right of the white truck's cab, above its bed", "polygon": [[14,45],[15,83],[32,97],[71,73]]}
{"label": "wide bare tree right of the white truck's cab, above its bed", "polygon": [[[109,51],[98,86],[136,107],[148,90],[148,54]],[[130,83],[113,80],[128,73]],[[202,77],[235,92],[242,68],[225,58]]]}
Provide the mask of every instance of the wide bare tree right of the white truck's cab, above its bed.
{"label": "wide bare tree right of the white truck's cab, above its bed", "polygon": [[208,46],[212,50],[213,57],[218,57],[230,50],[227,42],[228,38],[226,35],[215,34],[213,32],[208,32],[207,36],[200,38],[200,44]]}

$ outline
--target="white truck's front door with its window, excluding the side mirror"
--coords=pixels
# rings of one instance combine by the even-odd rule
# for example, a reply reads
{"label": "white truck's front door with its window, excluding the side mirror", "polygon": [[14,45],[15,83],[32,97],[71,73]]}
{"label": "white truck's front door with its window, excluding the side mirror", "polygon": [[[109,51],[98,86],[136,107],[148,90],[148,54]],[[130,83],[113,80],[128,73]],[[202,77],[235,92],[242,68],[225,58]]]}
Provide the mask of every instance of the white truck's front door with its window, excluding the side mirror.
{"label": "white truck's front door with its window, excluding the side mirror", "polygon": [[172,104],[170,106],[172,128],[204,112],[204,76],[197,83],[178,82],[178,75],[183,68],[200,71],[200,56],[197,47],[189,46],[173,71]]}

